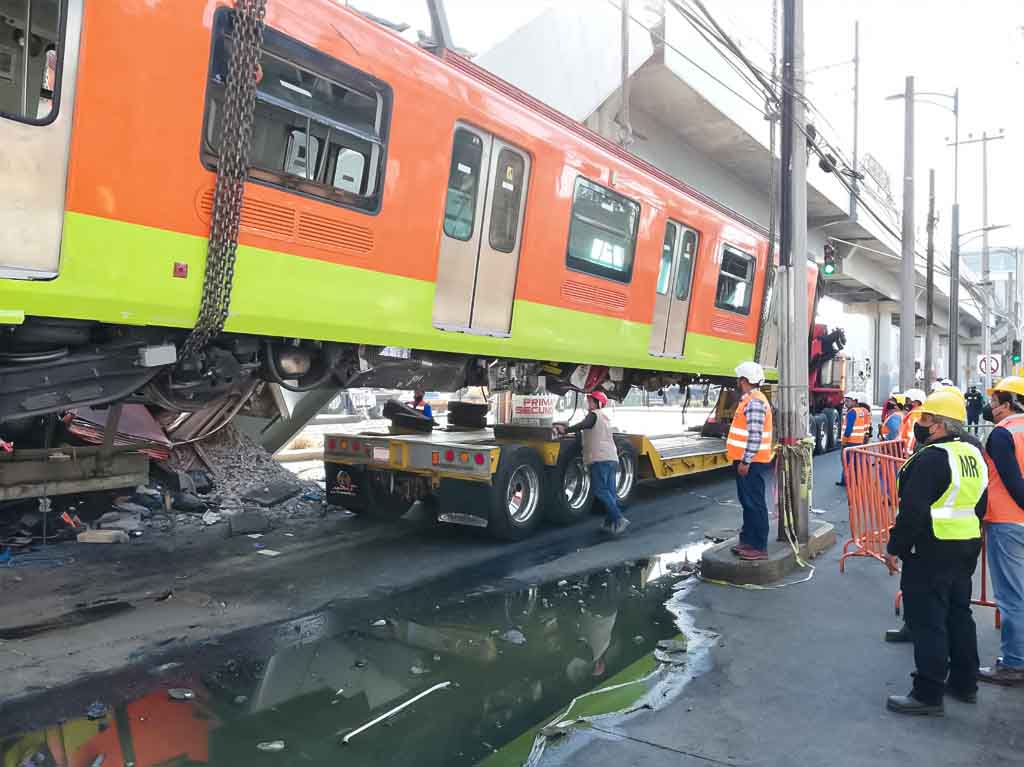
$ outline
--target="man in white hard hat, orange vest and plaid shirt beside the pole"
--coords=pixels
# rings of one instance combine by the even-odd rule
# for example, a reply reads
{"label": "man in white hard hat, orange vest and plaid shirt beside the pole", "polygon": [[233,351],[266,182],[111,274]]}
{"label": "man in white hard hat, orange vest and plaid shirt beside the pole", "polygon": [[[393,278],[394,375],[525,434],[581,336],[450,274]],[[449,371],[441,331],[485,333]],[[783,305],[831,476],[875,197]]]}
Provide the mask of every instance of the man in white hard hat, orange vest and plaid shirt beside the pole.
{"label": "man in white hard hat, orange vest and plaid shirt beside the pole", "polygon": [[742,363],[736,368],[736,389],[740,399],[725,448],[736,467],[736,495],[743,508],[743,526],[732,553],[750,560],[768,558],[765,489],[770,480],[774,448],[771,404],[761,391],[764,382],[764,369],[757,363]]}

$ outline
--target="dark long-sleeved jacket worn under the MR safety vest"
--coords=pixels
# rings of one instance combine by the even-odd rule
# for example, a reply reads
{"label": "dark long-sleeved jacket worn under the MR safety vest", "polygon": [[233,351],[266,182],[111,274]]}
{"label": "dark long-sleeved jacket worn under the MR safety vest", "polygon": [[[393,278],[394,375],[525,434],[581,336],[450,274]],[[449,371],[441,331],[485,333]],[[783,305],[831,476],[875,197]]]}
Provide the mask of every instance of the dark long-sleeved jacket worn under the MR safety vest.
{"label": "dark long-sleeved jacket worn under the MR safety vest", "polygon": [[[951,442],[952,437],[929,444]],[[977,439],[964,439],[979,446]],[[981,539],[939,541],[932,531],[932,504],[942,498],[952,476],[945,451],[922,446],[900,473],[899,513],[889,530],[890,554],[903,560],[903,578],[936,572],[971,574],[981,553]],[[986,494],[975,507],[980,520],[985,514]]]}

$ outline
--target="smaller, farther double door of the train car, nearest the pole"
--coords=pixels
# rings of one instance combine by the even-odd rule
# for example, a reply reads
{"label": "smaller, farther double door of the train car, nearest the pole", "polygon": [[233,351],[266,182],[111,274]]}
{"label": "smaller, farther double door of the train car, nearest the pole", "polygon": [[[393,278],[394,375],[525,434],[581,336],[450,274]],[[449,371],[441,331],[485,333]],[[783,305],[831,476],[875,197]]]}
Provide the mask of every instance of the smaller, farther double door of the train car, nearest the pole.
{"label": "smaller, farther double door of the train car, nearest the pole", "polygon": [[683,355],[698,244],[699,236],[693,229],[671,219],[666,223],[648,347],[653,356]]}

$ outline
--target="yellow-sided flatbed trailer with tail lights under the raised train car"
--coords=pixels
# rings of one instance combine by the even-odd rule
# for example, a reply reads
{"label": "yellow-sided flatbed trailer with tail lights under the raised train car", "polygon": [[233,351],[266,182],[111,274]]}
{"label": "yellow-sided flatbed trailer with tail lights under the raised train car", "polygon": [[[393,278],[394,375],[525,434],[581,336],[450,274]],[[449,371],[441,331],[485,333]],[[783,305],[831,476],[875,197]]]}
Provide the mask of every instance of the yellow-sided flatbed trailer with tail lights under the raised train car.
{"label": "yellow-sided flatbed trailer with tail lights under the raised train car", "polygon": [[[706,424],[701,431],[708,429]],[[638,481],[729,465],[725,438],[696,431],[620,433],[615,443],[616,494],[624,505]],[[332,503],[397,517],[421,501],[439,522],[486,528],[502,540],[526,538],[544,520],[571,524],[595,503],[580,438],[553,438],[548,429],[450,426],[428,433],[328,434],[324,462]]]}

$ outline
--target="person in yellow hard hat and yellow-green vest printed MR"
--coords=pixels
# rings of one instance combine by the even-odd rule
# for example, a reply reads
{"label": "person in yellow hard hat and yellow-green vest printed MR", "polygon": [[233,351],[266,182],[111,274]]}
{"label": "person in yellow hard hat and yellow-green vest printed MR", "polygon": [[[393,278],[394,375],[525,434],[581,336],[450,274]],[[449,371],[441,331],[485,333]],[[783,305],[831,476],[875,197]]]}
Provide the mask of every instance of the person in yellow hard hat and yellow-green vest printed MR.
{"label": "person in yellow hard hat and yellow-green vest printed MR", "polygon": [[918,410],[918,452],[899,472],[899,512],[889,530],[886,564],[902,562],[900,589],[916,671],[906,695],[890,695],[898,714],[941,716],[943,695],[975,702],[978,637],[971,588],[981,553],[988,468],[964,439],[962,397],[939,390]]}

